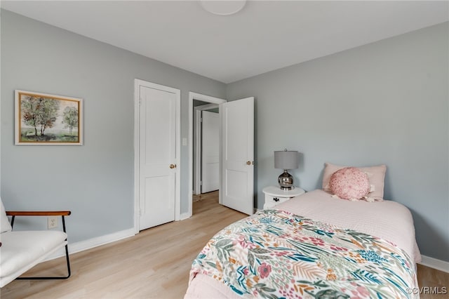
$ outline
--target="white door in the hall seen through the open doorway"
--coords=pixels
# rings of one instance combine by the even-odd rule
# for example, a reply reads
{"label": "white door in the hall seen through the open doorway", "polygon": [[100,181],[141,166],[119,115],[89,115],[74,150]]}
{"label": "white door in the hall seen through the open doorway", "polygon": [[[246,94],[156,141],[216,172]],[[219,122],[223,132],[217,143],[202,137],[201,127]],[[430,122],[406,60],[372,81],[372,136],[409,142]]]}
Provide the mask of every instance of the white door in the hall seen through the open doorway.
{"label": "white door in the hall seen through the open doorway", "polygon": [[201,123],[201,193],[220,188],[218,113],[203,111]]}

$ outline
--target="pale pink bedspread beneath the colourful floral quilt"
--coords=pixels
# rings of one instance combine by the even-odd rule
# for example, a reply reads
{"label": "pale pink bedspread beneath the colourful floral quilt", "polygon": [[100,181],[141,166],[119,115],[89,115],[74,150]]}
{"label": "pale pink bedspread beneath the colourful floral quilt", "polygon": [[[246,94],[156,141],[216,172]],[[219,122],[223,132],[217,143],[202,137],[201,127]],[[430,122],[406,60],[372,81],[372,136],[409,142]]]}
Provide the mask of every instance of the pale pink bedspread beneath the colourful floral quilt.
{"label": "pale pink bedspread beneath the colourful floral quilt", "polygon": [[[275,208],[386,239],[406,251],[415,263],[421,260],[410,211],[394,201],[346,201],[335,199],[322,190],[314,190]],[[187,298],[246,298],[246,296],[237,295],[220,281],[204,274],[197,274],[189,282],[185,295],[185,299]]]}

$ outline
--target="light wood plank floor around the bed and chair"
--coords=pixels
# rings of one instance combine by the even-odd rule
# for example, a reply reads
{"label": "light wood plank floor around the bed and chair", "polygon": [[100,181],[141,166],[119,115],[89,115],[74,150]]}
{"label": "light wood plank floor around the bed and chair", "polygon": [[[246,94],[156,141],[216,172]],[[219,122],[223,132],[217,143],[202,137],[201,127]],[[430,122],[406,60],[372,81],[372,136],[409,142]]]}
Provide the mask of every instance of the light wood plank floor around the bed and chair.
{"label": "light wood plank floor around the bed and chair", "polygon": [[[70,255],[67,280],[15,280],[1,288],[8,298],[183,298],[190,265],[204,244],[226,225],[246,217],[218,204],[217,192],[194,199],[192,218],[153,227],[135,237]],[[68,227],[69,230],[69,227]],[[27,275],[63,275],[65,258],[37,265]],[[418,266],[420,286],[446,286],[449,274]],[[448,290],[449,291],[449,290]],[[421,298],[445,298],[422,295]]]}

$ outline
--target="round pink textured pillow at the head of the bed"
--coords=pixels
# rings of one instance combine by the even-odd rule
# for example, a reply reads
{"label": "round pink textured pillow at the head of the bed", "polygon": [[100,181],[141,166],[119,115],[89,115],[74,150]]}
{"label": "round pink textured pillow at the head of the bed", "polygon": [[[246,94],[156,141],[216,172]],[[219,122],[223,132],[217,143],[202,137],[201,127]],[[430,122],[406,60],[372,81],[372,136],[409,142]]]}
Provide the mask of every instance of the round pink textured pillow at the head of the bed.
{"label": "round pink textured pillow at the head of the bed", "polygon": [[368,175],[355,167],[342,168],[330,176],[330,191],[340,199],[365,199],[371,185]]}

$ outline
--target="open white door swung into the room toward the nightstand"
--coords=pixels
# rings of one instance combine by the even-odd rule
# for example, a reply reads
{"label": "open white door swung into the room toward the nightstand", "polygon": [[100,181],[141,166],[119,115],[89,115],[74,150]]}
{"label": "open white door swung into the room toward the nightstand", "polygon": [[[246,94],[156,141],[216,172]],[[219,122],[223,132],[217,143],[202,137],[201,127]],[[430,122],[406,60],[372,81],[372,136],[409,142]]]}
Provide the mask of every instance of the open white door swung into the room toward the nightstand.
{"label": "open white door swung into the room toward the nightstand", "polygon": [[254,98],[220,105],[221,204],[254,213]]}

